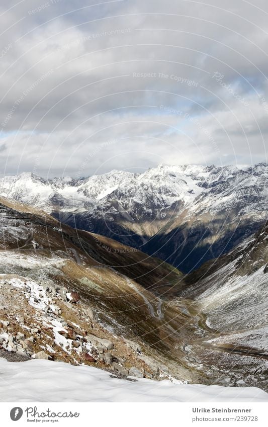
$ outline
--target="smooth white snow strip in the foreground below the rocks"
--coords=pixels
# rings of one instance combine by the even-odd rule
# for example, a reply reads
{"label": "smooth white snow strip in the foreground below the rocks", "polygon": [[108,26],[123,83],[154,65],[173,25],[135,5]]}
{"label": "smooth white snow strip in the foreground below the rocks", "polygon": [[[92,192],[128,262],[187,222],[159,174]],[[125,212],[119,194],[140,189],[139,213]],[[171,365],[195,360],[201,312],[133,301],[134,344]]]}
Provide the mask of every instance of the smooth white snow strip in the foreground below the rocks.
{"label": "smooth white snow strip in the foreground below the rocks", "polygon": [[62,362],[11,363],[0,359],[0,401],[268,402],[268,394],[255,387],[228,388],[148,379],[132,382],[110,375],[97,368]]}

